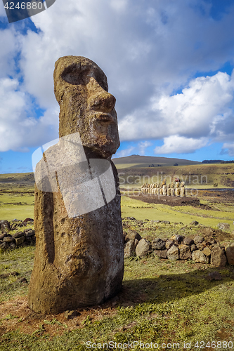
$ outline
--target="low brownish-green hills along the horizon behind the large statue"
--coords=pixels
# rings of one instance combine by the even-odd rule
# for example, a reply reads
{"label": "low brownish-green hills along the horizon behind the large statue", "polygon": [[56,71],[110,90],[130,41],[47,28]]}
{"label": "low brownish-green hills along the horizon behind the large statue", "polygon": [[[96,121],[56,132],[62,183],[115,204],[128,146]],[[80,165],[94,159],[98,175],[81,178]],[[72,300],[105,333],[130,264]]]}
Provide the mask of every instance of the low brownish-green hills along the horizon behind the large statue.
{"label": "low brownish-green hills along the horizon behind the large statue", "polygon": [[[121,185],[141,185],[143,183],[161,183],[164,178],[167,183],[180,178],[191,187],[234,187],[234,164],[202,164],[202,162],[187,159],[169,159],[167,157],[152,157],[131,155],[112,159],[119,172]],[[152,167],[152,164],[154,166]],[[157,165],[160,166],[157,166]],[[174,166],[178,164],[178,166]],[[150,166],[150,167],[149,167]],[[34,185],[33,173],[0,174],[0,188],[6,184]]]}

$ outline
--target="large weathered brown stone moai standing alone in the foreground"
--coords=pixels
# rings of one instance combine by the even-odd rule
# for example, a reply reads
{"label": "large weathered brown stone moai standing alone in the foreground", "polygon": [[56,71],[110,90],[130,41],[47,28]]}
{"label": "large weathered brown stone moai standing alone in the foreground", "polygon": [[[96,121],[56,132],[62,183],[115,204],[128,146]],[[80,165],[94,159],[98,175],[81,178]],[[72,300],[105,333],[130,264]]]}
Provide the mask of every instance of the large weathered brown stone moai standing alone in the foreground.
{"label": "large weathered brown stone moai standing alone in the foreground", "polygon": [[122,286],[124,242],[115,98],[91,60],[60,58],[59,139],[34,152],[36,251],[28,303],[54,314],[103,303]]}

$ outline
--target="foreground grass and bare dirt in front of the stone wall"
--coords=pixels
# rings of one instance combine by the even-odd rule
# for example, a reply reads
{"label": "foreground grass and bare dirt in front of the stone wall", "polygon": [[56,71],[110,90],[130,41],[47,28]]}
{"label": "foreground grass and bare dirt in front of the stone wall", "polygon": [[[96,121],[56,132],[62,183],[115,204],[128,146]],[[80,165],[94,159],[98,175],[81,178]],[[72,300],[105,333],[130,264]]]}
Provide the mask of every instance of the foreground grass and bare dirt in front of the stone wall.
{"label": "foreground grass and bare dirt in front of the stone wall", "polygon": [[[234,343],[233,266],[214,269],[155,257],[125,260],[118,298],[79,310],[77,317],[67,320],[63,313],[41,315],[27,307],[28,283],[20,283],[18,277],[29,282],[33,257],[33,247],[0,255],[0,274],[19,273],[17,277],[0,278],[1,351],[89,350],[89,341],[102,345],[113,341],[117,350],[123,348],[120,344],[134,341],[135,350],[143,349],[137,345],[140,341],[157,343],[159,350],[171,350],[173,343],[179,343],[180,349],[184,343],[191,343],[191,350],[205,345],[204,350],[233,348],[227,347]],[[209,272],[217,270],[221,281],[206,279]]]}

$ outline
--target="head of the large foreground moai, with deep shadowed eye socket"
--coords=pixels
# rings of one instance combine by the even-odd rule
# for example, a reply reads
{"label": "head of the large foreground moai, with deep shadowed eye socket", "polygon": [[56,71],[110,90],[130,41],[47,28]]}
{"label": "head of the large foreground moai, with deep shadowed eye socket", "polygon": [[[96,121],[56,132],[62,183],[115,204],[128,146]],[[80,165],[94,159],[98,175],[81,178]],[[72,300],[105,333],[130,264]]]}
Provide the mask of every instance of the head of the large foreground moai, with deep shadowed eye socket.
{"label": "head of the large foreground moai, with deep shadowed eye socket", "polygon": [[103,71],[82,56],[64,56],[56,61],[53,78],[60,138],[78,132],[84,147],[110,158],[119,147],[119,133],[115,98]]}

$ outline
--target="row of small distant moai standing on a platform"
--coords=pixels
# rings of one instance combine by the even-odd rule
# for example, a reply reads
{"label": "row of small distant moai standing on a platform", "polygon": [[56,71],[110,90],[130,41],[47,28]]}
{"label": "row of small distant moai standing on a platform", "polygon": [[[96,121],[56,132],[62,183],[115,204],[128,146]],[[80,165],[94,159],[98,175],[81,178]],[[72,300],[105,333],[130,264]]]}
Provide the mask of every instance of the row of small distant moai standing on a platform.
{"label": "row of small distant moai standing on a platform", "polygon": [[176,181],[176,183],[166,184],[165,179],[163,180],[162,184],[143,184],[141,186],[141,192],[143,194],[155,194],[171,197],[186,197],[184,182],[180,183],[179,181]]}

